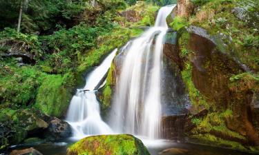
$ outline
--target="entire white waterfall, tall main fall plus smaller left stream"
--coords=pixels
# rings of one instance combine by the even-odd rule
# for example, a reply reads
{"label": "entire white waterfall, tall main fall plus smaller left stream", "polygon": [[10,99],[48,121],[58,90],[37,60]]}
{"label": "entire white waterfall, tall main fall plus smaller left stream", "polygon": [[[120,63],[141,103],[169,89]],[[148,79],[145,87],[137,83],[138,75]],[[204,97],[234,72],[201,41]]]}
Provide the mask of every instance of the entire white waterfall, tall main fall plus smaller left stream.
{"label": "entire white waterfall, tall main fall plus smaller left stream", "polygon": [[160,138],[162,50],[168,30],[166,17],[173,8],[175,5],[162,7],[155,26],[141,37],[129,41],[119,53],[124,55],[124,62],[117,74],[109,122],[111,127],[102,121],[95,92],[102,84],[117,49],[86,76],[86,85],[73,96],[66,118],[73,127],[75,138],[113,133]]}

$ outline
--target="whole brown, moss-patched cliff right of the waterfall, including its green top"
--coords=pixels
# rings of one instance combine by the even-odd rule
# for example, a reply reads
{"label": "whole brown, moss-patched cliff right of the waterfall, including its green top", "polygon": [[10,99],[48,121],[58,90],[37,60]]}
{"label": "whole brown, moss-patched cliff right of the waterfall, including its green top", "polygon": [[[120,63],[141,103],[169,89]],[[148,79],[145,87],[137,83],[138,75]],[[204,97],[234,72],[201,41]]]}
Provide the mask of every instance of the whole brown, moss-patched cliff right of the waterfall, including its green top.
{"label": "whole brown, moss-patched cliff right of the waterfall, including its green top", "polygon": [[[221,12],[211,6],[219,7]],[[237,6],[240,3],[233,1],[192,4],[180,0],[167,20],[178,30],[178,43],[169,49],[164,45],[164,53],[178,64],[189,93],[192,118],[184,119],[182,130],[189,141],[195,143],[238,149],[245,149],[242,145],[259,145],[258,66],[251,63],[258,59],[258,55],[253,54],[258,52],[258,45],[245,45],[245,35],[255,37],[250,33],[253,24],[238,21],[238,17],[231,13]],[[213,12],[212,17],[202,15],[205,10]],[[176,17],[175,21],[170,17]],[[219,18],[226,21],[219,22]],[[243,39],[229,26],[240,28]],[[247,50],[250,54],[246,53]],[[195,115],[202,110],[207,110],[207,114]]]}

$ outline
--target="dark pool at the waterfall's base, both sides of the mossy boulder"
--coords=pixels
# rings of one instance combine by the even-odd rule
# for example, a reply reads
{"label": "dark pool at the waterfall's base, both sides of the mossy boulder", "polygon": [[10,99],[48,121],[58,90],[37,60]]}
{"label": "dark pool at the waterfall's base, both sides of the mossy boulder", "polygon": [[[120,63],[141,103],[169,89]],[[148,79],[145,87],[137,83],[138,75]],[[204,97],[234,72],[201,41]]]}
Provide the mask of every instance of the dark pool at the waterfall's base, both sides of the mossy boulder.
{"label": "dark pool at the waterfall's base, both sides of the mossy boulder", "polygon": [[[142,139],[144,145],[148,148],[151,155],[249,155],[248,153],[238,152],[233,149],[222,149],[218,147],[209,147],[204,145],[194,145],[188,143],[175,143],[173,141],[156,140],[148,141]],[[66,155],[66,149],[69,145],[75,143],[70,139],[56,143],[41,143],[34,145],[16,145],[10,147],[13,149],[26,149],[34,147],[44,155]],[[8,152],[4,153],[4,155]]]}

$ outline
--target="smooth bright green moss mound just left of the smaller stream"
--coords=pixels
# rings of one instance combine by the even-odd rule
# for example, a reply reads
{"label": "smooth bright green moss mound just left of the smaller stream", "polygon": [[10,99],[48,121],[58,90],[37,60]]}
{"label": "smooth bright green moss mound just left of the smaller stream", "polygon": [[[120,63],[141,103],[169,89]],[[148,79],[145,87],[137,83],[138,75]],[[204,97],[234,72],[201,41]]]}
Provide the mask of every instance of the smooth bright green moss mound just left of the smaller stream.
{"label": "smooth bright green moss mound just left of the smaller stream", "polygon": [[35,107],[50,116],[63,116],[72,97],[70,88],[66,85],[70,78],[73,77],[68,77],[68,74],[46,76],[39,87]]}

